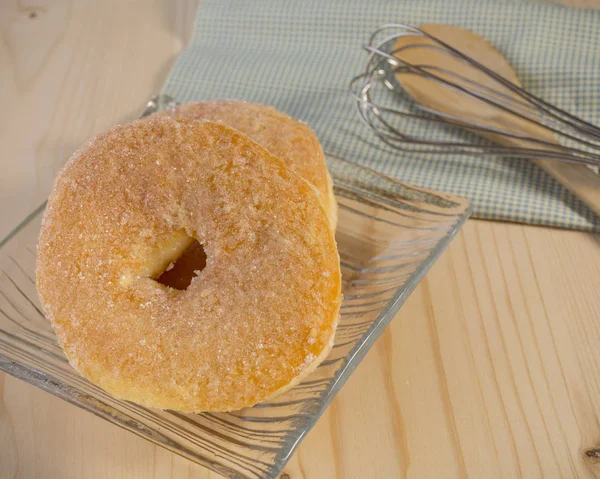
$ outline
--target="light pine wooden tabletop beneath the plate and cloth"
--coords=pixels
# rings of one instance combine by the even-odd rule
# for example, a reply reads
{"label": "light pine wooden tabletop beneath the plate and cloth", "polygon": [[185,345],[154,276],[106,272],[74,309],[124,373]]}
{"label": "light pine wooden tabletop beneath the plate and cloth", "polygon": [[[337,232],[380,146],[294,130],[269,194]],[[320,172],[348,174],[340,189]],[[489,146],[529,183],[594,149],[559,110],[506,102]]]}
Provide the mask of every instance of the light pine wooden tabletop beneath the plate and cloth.
{"label": "light pine wooden tabletop beneath the plate and cloth", "polygon": [[[14,3],[0,236],[83,140],[158,90],[196,6]],[[599,235],[469,221],[282,477],[600,477],[599,286]],[[0,374],[0,478],[38,477],[220,476]]]}

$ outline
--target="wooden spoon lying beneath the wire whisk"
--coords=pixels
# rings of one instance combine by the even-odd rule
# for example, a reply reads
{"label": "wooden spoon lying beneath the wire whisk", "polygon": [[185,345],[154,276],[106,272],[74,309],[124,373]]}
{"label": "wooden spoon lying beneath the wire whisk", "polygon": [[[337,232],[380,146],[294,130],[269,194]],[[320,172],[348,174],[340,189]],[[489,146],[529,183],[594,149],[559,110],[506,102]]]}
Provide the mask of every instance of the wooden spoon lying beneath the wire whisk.
{"label": "wooden spoon lying beneath the wire whisk", "polygon": [[[450,25],[431,24],[419,28],[453,48],[460,50],[465,55],[470,56],[512,83],[521,86],[515,72],[502,54],[475,33]],[[427,37],[404,36],[397,40],[394,49],[416,44],[436,45],[433,40],[430,40]],[[488,77],[481,70],[446,53],[419,47],[409,48],[398,52],[395,55],[413,65],[431,65],[442,68],[486,87],[500,91],[509,96],[509,99],[514,98],[515,101],[518,99],[513,92],[502,86],[496,80]],[[466,81],[438,71],[430,71],[430,73],[452,81],[460,86],[470,86]],[[494,105],[489,105],[465,93],[452,90],[435,80],[409,73],[398,73],[396,78],[401,83],[402,87],[418,102],[440,113],[450,114],[467,121],[476,121],[486,127],[501,128],[511,133],[527,135],[550,143],[559,144],[550,131],[528,122],[525,119],[507,113]],[[471,86],[471,88],[473,87]],[[522,139],[510,138],[487,132],[477,133],[494,142],[507,146],[537,149],[544,148],[543,145],[532,144],[531,142]],[[550,149],[550,147],[546,148]],[[585,165],[540,159],[535,159],[533,161],[568,188],[575,196],[594,211],[594,213],[600,216],[600,175]]]}

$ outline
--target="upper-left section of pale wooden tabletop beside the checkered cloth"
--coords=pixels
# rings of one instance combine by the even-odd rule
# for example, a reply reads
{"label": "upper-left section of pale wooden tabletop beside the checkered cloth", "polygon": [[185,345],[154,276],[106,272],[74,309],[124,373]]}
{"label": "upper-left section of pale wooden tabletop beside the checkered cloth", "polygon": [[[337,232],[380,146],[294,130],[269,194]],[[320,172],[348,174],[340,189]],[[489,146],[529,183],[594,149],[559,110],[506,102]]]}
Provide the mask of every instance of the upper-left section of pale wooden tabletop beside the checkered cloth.
{"label": "upper-left section of pale wooden tabletop beside the checkered cloth", "polygon": [[47,197],[84,139],[135,118],[160,89],[196,3],[0,5],[0,144],[10,166],[0,178],[0,236]]}

